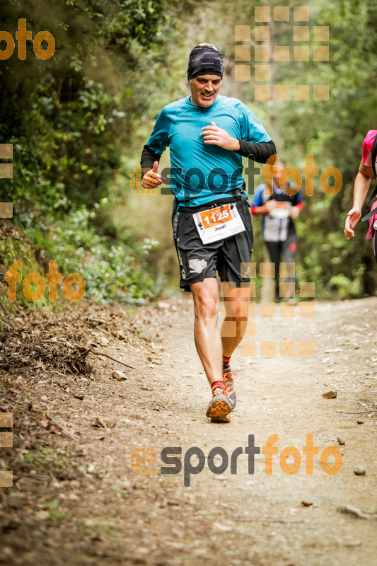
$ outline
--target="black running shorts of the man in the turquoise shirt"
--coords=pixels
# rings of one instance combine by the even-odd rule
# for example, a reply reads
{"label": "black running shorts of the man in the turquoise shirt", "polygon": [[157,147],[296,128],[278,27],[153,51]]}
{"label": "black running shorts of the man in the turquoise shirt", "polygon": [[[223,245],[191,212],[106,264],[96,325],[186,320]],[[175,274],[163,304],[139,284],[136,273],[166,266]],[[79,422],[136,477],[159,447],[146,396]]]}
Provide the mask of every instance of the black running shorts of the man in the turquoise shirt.
{"label": "black running shorts of the man in the turquoise shirt", "polygon": [[[245,225],[245,231],[217,242],[202,243],[193,212],[200,212],[218,207],[226,202],[236,202],[236,207]],[[216,270],[221,281],[249,283],[250,277],[241,273],[241,263],[250,263],[253,250],[253,225],[250,208],[246,197],[229,197],[209,202],[202,207],[178,209],[173,213],[173,238],[180,262],[180,288],[190,291],[190,285],[207,277],[216,277]]]}

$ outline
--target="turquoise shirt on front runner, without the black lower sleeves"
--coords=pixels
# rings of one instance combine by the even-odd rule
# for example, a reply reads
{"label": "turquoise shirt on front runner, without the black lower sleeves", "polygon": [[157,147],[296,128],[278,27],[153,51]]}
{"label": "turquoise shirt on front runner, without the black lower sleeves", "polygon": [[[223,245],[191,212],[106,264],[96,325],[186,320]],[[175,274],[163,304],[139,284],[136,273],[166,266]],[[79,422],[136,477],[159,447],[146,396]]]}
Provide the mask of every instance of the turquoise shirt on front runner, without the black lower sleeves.
{"label": "turquoise shirt on front runner, without the black lower sleeves", "polygon": [[146,146],[156,154],[170,148],[170,190],[180,203],[190,199],[192,207],[243,187],[240,154],[204,144],[200,136],[202,127],[211,122],[236,139],[254,143],[271,140],[253,112],[236,98],[217,95],[214,104],[202,108],[186,96],[165,106]]}

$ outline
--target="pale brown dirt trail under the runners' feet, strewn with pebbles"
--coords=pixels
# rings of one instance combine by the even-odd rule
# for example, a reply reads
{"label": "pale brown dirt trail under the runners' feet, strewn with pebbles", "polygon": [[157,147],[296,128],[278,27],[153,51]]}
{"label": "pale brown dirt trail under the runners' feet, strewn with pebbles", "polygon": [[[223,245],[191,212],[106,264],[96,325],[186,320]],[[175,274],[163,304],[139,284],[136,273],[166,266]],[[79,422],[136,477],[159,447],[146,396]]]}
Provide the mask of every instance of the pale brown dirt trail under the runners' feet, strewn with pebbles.
{"label": "pale brown dirt trail under the runners' feet, strewn with pebbles", "polygon": [[[3,410],[14,408],[15,441],[13,449],[1,449],[1,469],[15,470],[15,483],[0,490],[0,563],[375,565],[377,519],[337,508],[377,507],[376,308],[371,298],[316,304],[314,318],[299,318],[298,307],[295,318],[257,318],[257,341],[314,340],[315,357],[250,358],[237,351],[238,404],[230,424],[211,424],[204,415],[209,386],[192,337],[191,299],[127,316],[119,309],[85,311],[83,339],[137,369],[92,353],[86,377],[63,378],[46,364],[22,383],[16,370],[4,372]],[[69,323],[65,332],[67,340]],[[114,369],[127,380],[112,379]],[[337,398],[322,398],[330,390]],[[300,470],[284,473],[278,455],[266,475],[259,454],[250,474],[241,454],[236,475],[230,467],[211,473],[209,451],[221,446],[230,457],[247,446],[249,434],[256,446],[278,434],[279,454],[296,446]],[[320,453],[341,450],[339,473],[327,475],[314,456],[313,475],[306,475],[306,434]],[[158,473],[130,467],[130,454],[143,446],[156,452]],[[191,446],[202,449],[206,466],[190,487],[183,472],[159,473],[164,446],[182,446],[182,461]],[[366,475],[354,475],[356,466]]]}

